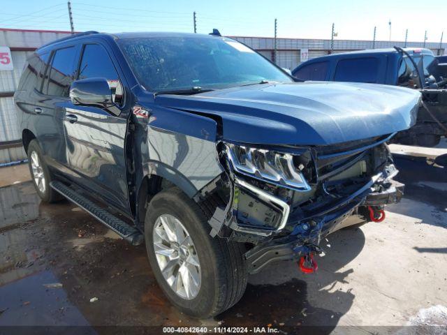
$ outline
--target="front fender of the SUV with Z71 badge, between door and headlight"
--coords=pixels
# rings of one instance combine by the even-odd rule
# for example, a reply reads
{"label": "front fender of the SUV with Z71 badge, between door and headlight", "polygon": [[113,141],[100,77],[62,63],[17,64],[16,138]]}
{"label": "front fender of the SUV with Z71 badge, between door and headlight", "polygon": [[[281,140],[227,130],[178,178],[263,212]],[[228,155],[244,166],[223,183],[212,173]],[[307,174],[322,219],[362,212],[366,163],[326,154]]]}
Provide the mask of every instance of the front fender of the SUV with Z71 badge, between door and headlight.
{"label": "front fender of the SUV with Z71 badge, between door and headlight", "polygon": [[[144,96],[144,95],[143,95]],[[162,177],[193,198],[223,172],[217,157],[217,122],[210,117],[161,107],[148,96],[135,107],[135,186]],[[141,204],[136,204],[140,207]],[[135,211],[139,213],[140,211]]]}

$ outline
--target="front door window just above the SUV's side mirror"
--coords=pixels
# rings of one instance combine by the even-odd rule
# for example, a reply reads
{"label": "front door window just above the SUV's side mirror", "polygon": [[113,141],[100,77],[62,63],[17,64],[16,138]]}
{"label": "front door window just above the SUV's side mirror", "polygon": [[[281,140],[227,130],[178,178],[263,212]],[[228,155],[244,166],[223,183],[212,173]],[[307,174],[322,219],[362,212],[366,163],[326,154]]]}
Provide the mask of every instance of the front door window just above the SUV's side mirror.
{"label": "front door window just above the SUV's side mirror", "polygon": [[118,105],[123,102],[123,87],[119,81],[117,70],[113,66],[107,51],[98,44],[87,44],[82,53],[78,79],[101,77],[107,80],[112,99]]}

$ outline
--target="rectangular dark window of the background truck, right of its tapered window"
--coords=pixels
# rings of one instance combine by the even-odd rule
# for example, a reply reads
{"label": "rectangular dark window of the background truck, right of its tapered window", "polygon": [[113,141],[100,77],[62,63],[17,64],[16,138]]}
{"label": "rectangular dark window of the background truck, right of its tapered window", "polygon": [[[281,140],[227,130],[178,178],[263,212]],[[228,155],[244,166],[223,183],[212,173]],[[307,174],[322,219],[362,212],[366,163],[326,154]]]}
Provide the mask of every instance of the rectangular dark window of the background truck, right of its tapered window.
{"label": "rectangular dark window of the background truck, right of its tapered window", "polygon": [[377,82],[379,59],[374,57],[342,59],[335,70],[336,82]]}

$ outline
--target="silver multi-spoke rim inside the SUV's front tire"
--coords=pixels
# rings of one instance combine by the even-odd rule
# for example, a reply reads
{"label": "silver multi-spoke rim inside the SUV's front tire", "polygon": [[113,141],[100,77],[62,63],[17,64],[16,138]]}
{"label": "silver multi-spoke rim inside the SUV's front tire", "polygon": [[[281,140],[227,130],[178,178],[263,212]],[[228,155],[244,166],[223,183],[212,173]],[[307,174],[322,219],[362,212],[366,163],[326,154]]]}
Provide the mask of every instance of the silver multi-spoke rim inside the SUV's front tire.
{"label": "silver multi-spoke rim inside the SUV's front tire", "polygon": [[200,289],[200,262],[184,225],[170,214],[159,216],[152,232],[161,274],[183,299],[194,299]]}

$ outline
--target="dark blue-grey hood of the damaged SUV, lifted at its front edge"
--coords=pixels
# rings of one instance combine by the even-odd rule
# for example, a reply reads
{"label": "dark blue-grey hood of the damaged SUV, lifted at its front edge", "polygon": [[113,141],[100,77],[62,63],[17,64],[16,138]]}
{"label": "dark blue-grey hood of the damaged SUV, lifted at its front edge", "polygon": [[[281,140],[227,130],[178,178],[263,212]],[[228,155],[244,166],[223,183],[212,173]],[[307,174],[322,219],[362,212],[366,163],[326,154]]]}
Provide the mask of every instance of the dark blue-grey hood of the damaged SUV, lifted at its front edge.
{"label": "dark blue-grey hood of the damaged SUV, lifted at its front edge", "polygon": [[218,115],[225,140],[325,145],[408,129],[416,122],[420,93],[379,84],[300,82],[160,95],[155,102]]}

